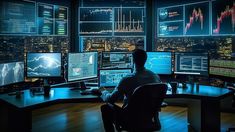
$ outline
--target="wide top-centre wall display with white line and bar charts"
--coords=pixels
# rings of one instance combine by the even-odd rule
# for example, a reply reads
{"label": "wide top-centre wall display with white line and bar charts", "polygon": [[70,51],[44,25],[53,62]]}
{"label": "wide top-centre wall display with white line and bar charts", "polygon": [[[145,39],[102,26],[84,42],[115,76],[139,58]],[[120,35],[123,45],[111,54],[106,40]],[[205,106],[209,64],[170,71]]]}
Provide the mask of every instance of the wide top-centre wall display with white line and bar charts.
{"label": "wide top-centre wall display with white line and bar charts", "polygon": [[80,35],[144,35],[145,8],[81,7]]}

